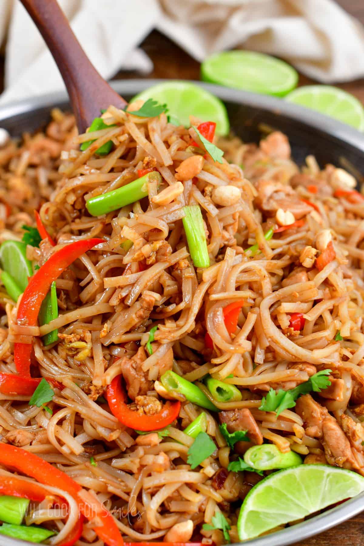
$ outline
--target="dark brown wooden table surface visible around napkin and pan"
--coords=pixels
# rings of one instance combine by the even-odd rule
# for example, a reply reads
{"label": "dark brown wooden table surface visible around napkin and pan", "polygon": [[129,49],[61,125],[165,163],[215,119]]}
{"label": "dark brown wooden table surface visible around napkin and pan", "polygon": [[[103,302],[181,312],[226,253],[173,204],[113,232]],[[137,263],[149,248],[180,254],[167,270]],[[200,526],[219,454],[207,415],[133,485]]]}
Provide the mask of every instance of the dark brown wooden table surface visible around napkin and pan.
{"label": "dark brown wooden table surface visible around napkin and pan", "polygon": [[[316,1],[320,2],[320,0]],[[364,0],[337,0],[337,2],[351,15],[364,23]],[[146,76],[147,78],[199,80],[200,63],[159,32],[154,31],[148,35],[141,44],[141,48],[150,56],[154,63],[153,72]],[[4,62],[3,59],[0,59],[0,91],[3,88],[3,73]],[[116,74],[114,79],[132,78],[140,78],[140,74],[122,70]],[[307,85],[312,82],[313,80],[300,75],[300,85]],[[364,79],[337,85],[353,93],[364,103]],[[338,527],[321,533],[321,535],[296,544],[296,546],[333,545],[364,546],[364,513],[357,515],[356,518],[346,521]]]}

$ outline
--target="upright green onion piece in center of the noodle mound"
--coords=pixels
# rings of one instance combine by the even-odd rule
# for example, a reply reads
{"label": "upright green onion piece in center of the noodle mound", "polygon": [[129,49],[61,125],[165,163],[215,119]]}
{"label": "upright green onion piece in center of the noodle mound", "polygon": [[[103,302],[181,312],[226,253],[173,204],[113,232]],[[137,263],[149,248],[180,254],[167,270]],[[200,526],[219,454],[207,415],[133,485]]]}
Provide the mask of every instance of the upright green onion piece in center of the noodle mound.
{"label": "upright green onion piece in center of the noodle mound", "polygon": [[193,264],[196,268],[208,268],[210,267],[210,258],[208,257],[201,209],[199,205],[192,205],[183,207],[183,211],[186,216],[182,218],[182,222]]}

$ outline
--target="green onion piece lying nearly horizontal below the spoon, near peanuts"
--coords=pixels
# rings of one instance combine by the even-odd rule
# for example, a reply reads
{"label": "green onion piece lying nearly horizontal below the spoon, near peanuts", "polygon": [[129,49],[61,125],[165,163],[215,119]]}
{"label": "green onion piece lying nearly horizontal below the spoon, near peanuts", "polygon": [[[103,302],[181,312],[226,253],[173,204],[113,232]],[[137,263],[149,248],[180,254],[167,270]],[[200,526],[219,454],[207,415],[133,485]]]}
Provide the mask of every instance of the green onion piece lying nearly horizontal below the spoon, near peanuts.
{"label": "green onion piece lying nearly horizontal below the spoon, near peanuts", "polygon": [[101,216],[113,210],[121,209],[123,206],[135,203],[135,201],[139,201],[139,199],[148,195],[148,182],[157,182],[160,184],[162,176],[160,176],[158,171],[152,171],[126,186],[96,195],[96,197],[92,197],[87,201],[87,210],[92,216]]}

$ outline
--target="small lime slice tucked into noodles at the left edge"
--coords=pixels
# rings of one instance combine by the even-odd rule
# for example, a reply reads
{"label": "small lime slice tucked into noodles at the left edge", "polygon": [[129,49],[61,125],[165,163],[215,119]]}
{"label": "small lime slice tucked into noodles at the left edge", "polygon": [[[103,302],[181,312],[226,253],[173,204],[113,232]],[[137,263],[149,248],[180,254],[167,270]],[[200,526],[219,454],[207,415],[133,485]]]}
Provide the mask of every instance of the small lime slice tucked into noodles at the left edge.
{"label": "small lime slice tucked into noodles at the left edge", "polygon": [[22,292],[33,275],[32,262],[26,257],[27,245],[21,241],[4,241],[0,246],[0,262],[4,271],[13,277]]}

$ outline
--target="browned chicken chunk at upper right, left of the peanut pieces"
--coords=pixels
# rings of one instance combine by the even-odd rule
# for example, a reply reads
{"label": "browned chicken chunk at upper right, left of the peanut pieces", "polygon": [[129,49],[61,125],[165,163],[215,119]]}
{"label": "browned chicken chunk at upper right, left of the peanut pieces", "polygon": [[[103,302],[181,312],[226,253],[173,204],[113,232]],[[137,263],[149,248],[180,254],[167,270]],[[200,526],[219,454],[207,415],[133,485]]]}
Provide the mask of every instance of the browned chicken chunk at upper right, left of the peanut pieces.
{"label": "browned chicken chunk at upper right, left of the peanut pieces", "polygon": [[280,182],[261,179],[255,184],[258,197],[256,205],[262,210],[277,212],[278,209],[289,210],[297,219],[306,216],[313,209],[304,203],[290,186]]}

